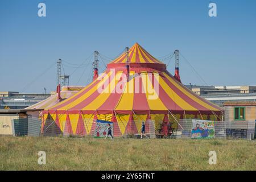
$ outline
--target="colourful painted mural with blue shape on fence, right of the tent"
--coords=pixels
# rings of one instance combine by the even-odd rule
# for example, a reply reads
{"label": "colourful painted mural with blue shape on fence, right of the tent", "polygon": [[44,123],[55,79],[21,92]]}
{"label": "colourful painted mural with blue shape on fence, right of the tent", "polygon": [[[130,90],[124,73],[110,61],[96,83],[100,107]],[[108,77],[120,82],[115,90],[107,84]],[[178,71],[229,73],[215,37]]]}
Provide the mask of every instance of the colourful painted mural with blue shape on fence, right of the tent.
{"label": "colourful painted mural with blue shape on fence, right of the tent", "polygon": [[214,121],[192,119],[191,138],[214,138]]}

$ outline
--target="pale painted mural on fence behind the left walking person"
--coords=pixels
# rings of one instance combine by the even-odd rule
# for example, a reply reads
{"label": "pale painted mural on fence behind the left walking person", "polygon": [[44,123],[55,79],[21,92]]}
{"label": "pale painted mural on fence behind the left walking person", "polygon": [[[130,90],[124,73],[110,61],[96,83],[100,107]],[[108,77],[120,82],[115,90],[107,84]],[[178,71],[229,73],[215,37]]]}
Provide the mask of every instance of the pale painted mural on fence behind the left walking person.
{"label": "pale painted mural on fence behind the left walking person", "polygon": [[97,119],[94,137],[95,138],[106,137],[106,135],[108,134],[108,124],[110,124],[110,126],[112,128],[112,133],[114,133],[113,122],[108,122],[108,121],[103,121],[103,120]]}

